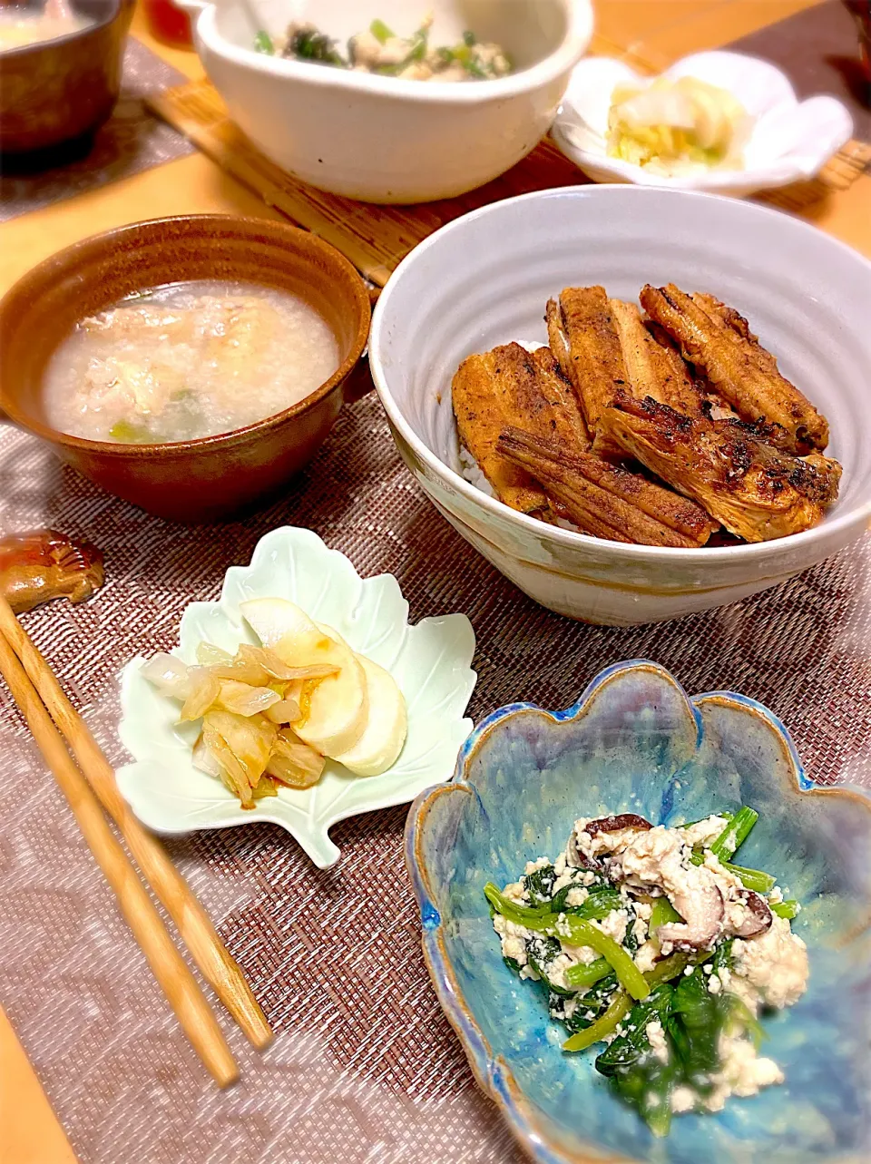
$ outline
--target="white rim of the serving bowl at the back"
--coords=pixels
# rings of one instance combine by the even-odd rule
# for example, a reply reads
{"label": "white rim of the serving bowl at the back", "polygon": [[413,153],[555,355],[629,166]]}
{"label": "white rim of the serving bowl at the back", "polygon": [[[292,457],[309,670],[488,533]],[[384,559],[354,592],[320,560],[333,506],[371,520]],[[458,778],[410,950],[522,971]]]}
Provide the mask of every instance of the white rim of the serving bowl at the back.
{"label": "white rim of the serving bowl at the back", "polygon": [[221,36],[218,30],[215,3],[184,0],[184,7],[191,13],[199,12],[196,31],[205,47],[234,65],[276,79],[303,81],[312,88],[346,88],[349,92],[371,93],[415,105],[483,105],[534,92],[574,68],[589,44],[594,27],[590,0],[564,0],[565,36],[553,52],[531,68],[495,80],[476,81],[474,85],[456,85],[451,81],[427,81],[424,85],[399,77],[377,77],[373,73],[340,69],[314,69],[304,62],[257,55],[254,49],[241,48]]}

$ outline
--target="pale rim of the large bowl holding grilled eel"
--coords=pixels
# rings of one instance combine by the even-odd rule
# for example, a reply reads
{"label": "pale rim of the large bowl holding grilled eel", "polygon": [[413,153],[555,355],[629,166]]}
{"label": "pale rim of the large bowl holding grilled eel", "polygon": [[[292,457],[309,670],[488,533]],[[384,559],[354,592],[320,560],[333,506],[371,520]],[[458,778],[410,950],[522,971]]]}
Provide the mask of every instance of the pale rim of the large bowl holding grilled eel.
{"label": "pale rim of the large bowl holding grilled eel", "polygon": [[[444,484],[446,484],[452,491],[459,494],[467,502],[472,502],[473,505],[479,510],[482,510],[486,516],[502,518],[510,525],[514,525],[519,532],[531,534],[545,544],[555,545],[565,549],[595,548],[599,553],[610,558],[615,562],[647,561],[661,563],[681,562],[685,566],[722,566],[742,560],[751,562],[758,559],[777,559],[793,547],[805,546],[810,548],[815,542],[826,539],[829,534],[837,534],[841,531],[849,530],[862,524],[868,524],[868,521],[871,520],[871,490],[869,490],[869,496],[865,501],[859,499],[845,512],[838,513],[834,518],[824,520],[820,525],[814,526],[812,530],[805,530],[802,533],[793,533],[786,538],[777,538],[772,541],[749,542],[742,546],[702,546],[695,549],[677,546],[640,546],[624,545],[623,542],[617,541],[604,541],[603,539],[594,538],[590,534],[575,533],[573,530],[564,530],[560,526],[548,525],[547,523],[540,521],[526,513],[519,513],[517,510],[512,510],[509,505],[505,505],[495,497],[488,496],[483,492],[483,490],[475,488],[475,485],[466,481],[465,477],[460,476],[459,473],[455,473],[448,464],[431,452],[431,449],[417,435],[409,421],[405,419],[402,407],[394,399],[390,388],[388,386],[387,375],[381,362],[380,350],[382,343],[383,319],[387,314],[388,307],[390,306],[391,297],[395,293],[395,284],[398,283],[399,278],[405,274],[409,267],[420,262],[427,251],[433,246],[437,246],[445,235],[453,230],[463,228],[470,221],[475,221],[488,214],[498,212],[505,206],[521,203],[543,201],[551,198],[600,198],[607,197],[610,191],[615,190],[619,190],[623,193],[623,197],[629,198],[650,198],[651,196],[654,196],[680,199],[703,199],[704,201],[723,203],[730,206],[737,204],[744,206],[751,214],[762,215],[767,218],[770,221],[786,222],[788,223],[786,229],[796,230],[800,235],[813,235],[814,237],[822,236],[826,240],[827,246],[842,251],[844,255],[849,255],[854,261],[863,263],[868,268],[869,274],[871,274],[871,260],[865,258],[857,250],[854,250],[852,247],[848,247],[847,243],[841,242],[838,239],[835,239],[831,235],[823,235],[822,232],[820,232],[819,228],[814,227],[812,223],[805,222],[801,219],[794,219],[772,207],[759,206],[753,203],[742,203],[738,199],[729,198],[724,194],[709,193],[708,191],[642,186],[630,183],[596,183],[589,185],[559,186],[554,190],[534,190],[531,193],[518,194],[515,198],[505,198],[498,203],[491,203],[487,206],[481,206],[477,210],[469,211],[467,214],[460,215],[460,218],[446,223],[424,239],[423,242],[418,243],[418,246],[415,247],[413,250],[411,250],[397,265],[381,292],[378,301],[375,305],[375,311],[373,312],[371,332],[369,335],[369,364],[371,368],[373,381],[375,382],[375,390],[378,393],[383,409],[387,412],[395,432],[399,434],[402,440],[413,453],[415,457],[426,466],[436,478],[444,482]],[[463,521],[466,520],[467,519],[463,518]]]}

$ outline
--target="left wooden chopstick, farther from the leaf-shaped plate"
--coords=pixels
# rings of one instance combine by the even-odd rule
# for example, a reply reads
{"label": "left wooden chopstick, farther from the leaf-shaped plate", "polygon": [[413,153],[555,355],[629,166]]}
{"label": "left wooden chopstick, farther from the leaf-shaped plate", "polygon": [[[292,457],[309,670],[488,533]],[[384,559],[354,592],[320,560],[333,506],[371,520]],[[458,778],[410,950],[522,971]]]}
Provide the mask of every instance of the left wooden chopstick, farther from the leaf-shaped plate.
{"label": "left wooden chopstick, farther from the leaf-shaped plate", "polygon": [[69,801],[97,864],[115,892],[127,924],[133,930],[187,1038],[218,1085],[226,1087],[239,1078],[239,1069],[218,1025],[218,1020],[167,932],[148,890],[109,829],[87,781],[73,764],[61,733],[49,718],[15,652],[2,634],[0,634],[0,674],[27,719],[34,739]]}

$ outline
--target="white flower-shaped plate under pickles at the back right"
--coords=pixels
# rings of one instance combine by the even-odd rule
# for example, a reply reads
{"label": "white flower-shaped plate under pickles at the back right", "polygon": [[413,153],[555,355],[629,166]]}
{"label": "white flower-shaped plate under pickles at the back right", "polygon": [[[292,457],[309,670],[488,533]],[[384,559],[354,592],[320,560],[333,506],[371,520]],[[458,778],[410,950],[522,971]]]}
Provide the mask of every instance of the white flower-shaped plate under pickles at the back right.
{"label": "white flower-shaped plate under pickles at the back right", "polygon": [[615,85],[651,84],[622,61],[587,57],[575,68],[551,134],[566,157],[595,182],[707,190],[741,197],[812,178],[850,140],[852,119],[834,97],[799,101],[786,76],[741,52],[696,52],[664,77],[697,77],[729,90],[755,119],[741,170],[704,170],[664,177],[644,166],[608,157],[608,109]]}

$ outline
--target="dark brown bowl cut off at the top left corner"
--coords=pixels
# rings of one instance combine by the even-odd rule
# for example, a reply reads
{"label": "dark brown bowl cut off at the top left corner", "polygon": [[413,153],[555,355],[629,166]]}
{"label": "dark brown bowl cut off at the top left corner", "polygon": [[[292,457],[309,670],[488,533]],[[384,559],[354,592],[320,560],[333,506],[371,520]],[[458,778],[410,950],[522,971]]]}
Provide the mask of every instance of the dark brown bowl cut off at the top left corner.
{"label": "dark brown bowl cut off at the top left corner", "polygon": [[[118,100],[133,3],[71,0],[72,10],[93,23],[0,56],[0,151],[48,151],[72,141],[86,146]],[[10,7],[8,0],[0,5]]]}

